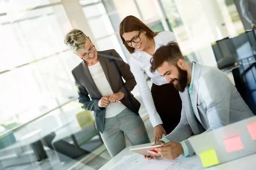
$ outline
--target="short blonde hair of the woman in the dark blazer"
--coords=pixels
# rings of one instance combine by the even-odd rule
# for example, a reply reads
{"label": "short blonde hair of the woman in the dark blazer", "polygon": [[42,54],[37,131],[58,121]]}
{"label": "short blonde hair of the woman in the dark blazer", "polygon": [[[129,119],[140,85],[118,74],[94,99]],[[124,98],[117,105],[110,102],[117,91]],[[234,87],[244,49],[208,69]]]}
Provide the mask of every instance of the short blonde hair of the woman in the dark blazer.
{"label": "short blonde hair of the woman in the dark blazer", "polygon": [[84,44],[87,42],[88,37],[80,29],[72,29],[64,37],[64,44],[70,48],[73,53],[77,53],[84,49]]}

